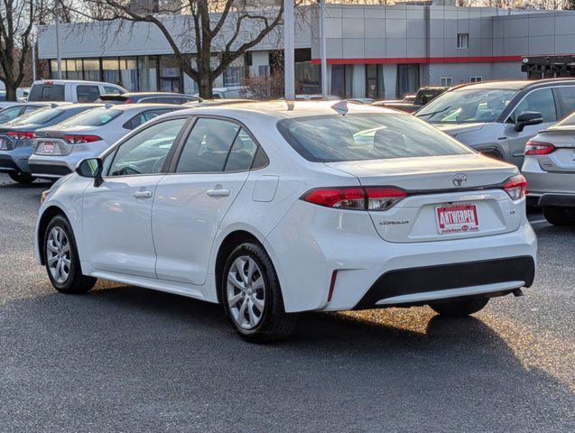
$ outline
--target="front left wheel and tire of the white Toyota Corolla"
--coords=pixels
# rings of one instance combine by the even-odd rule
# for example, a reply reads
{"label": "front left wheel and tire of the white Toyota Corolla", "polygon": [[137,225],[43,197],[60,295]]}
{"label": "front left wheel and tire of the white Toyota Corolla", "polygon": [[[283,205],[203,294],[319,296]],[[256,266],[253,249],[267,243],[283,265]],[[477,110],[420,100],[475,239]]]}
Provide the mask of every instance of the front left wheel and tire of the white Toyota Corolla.
{"label": "front left wheel and tire of the white Toyota Corolla", "polygon": [[82,275],[78,248],[66,217],[53,217],[42,243],[46,272],[54,289],[61,293],[86,293],[97,279]]}

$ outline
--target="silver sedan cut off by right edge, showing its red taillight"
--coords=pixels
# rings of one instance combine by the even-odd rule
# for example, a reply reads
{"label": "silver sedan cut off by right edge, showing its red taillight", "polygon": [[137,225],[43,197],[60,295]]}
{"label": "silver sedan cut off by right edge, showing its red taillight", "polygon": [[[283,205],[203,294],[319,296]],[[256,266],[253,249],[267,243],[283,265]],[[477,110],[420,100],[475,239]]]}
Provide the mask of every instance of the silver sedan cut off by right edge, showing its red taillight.
{"label": "silver sedan cut off by right edge, showing its red taillight", "polygon": [[575,226],[575,113],[527,142],[522,171],[547,221]]}

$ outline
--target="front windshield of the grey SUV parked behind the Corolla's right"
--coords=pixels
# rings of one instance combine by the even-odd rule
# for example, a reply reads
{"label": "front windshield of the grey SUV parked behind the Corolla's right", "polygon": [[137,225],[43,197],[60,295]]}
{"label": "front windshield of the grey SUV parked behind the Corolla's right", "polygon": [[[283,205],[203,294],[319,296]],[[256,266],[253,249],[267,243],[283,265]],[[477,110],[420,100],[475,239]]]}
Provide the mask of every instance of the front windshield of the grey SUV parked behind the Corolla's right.
{"label": "front windshield of the grey SUV parked behind the Corolla's right", "polygon": [[517,90],[461,88],[433,99],[415,115],[431,124],[495,122]]}

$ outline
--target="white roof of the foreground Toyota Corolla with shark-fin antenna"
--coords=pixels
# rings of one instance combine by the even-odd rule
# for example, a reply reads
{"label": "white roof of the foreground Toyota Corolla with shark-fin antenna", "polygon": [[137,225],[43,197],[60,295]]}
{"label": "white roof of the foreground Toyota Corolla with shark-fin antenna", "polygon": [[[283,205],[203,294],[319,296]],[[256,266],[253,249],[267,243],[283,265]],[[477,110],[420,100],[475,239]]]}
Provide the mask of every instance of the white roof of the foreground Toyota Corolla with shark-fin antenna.
{"label": "white roof of the foreground Toyota Corolla with shark-fin antenna", "polygon": [[235,115],[254,117],[275,117],[277,119],[294,117],[311,117],[315,115],[338,115],[337,108],[345,109],[348,114],[374,113],[408,115],[399,113],[396,110],[379,106],[348,104],[347,101],[268,101],[268,102],[243,102],[232,103],[224,106],[199,106],[187,109],[186,114],[191,115],[224,115],[234,117]]}

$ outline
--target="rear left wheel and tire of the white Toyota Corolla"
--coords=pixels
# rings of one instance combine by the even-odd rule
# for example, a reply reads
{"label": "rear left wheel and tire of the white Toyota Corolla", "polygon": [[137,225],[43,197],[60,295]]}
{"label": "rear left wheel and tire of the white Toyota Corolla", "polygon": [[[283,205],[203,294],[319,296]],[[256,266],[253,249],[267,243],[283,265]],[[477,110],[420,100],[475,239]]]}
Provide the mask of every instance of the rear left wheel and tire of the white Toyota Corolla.
{"label": "rear left wheel and tire of the white Toyota Corolla", "polygon": [[227,319],[246,341],[266,343],[291,334],[296,316],[283,308],[274,264],[261,245],[247,242],[229,254],[220,295]]}

